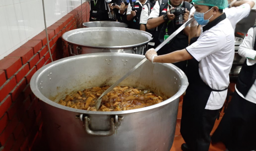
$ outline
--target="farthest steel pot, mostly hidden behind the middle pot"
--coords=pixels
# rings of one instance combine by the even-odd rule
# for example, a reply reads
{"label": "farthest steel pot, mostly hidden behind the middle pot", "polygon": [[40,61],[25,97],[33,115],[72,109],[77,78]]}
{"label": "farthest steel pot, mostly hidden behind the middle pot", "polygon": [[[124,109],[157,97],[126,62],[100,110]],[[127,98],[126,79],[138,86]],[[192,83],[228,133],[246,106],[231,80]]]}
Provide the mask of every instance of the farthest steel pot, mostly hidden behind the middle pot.
{"label": "farthest steel pot, mostly hidden behind the middle pot", "polygon": [[89,21],[83,23],[84,27],[128,27],[127,24],[117,21]]}

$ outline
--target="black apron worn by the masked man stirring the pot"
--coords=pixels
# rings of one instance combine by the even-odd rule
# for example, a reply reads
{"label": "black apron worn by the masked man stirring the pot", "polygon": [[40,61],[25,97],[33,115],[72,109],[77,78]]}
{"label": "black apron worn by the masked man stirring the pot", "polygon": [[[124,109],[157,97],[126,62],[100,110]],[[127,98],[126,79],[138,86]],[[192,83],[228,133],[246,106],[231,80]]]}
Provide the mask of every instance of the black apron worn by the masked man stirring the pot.
{"label": "black apron worn by the masked man stirring the pot", "polygon": [[[204,31],[217,25],[222,20],[226,19],[223,14],[219,18],[208,25],[204,26]],[[197,38],[191,39],[195,42]],[[181,119],[181,134],[188,147],[194,151],[208,151],[211,137],[210,132],[213,129],[215,120],[219,116],[219,109],[208,110],[205,106],[214,90],[206,85],[199,74],[199,63],[195,59],[188,60],[187,77],[189,86],[186,90],[186,95],[183,98],[182,119]]]}

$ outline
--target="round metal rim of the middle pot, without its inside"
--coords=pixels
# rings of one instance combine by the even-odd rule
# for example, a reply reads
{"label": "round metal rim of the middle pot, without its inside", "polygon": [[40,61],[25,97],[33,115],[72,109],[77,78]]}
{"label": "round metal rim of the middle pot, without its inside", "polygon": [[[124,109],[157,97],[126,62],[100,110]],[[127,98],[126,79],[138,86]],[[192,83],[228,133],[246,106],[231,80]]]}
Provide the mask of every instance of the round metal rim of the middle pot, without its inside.
{"label": "round metal rim of the middle pot, without its inside", "polygon": [[[145,35],[148,35],[148,40],[146,42],[143,43],[139,43],[139,44],[133,44],[133,45],[122,45],[122,46],[94,46],[94,45],[85,45],[85,44],[79,44],[79,43],[74,43],[74,42],[70,42],[70,40],[68,40],[68,37],[72,36],[73,34],[79,33],[79,32],[83,32],[83,31],[131,31],[131,32],[137,32],[137,33],[143,33]],[[65,32],[62,35],[62,39],[70,44],[74,44],[74,45],[78,45],[81,47],[89,47],[89,48],[100,48],[100,49],[124,49],[124,48],[131,48],[131,47],[138,47],[140,45],[144,45],[150,42],[150,40],[152,39],[152,34],[145,32],[145,31],[140,31],[140,30],[134,30],[134,29],[130,29],[130,28],[123,28],[123,27],[88,27],[88,28],[78,28],[76,30],[71,30],[68,32]]]}

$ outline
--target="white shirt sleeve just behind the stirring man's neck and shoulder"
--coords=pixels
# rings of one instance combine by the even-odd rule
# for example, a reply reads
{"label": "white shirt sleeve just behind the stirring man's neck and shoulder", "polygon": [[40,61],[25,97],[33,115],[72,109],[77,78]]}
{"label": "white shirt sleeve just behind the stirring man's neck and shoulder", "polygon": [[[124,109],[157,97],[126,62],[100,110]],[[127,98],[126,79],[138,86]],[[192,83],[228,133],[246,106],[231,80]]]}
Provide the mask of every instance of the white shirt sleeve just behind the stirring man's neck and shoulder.
{"label": "white shirt sleeve just behind the stirring man's neck and shoulder", "polygon": [[227,19],[230,20],[231,25],[235,31],[237,22],[241,21],[243,18],[246,18],[250,14],[250,5],[242,4],[239,7],[232,7],[224,9],[224,13],[227,16]]}

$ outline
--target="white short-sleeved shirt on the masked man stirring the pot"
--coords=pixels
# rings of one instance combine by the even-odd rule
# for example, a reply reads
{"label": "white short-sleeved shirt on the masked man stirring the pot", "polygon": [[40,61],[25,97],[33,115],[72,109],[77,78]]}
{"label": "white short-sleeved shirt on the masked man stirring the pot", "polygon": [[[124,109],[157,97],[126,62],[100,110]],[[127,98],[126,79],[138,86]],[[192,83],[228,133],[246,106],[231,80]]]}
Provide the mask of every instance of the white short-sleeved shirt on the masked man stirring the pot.
{"label": "white short-sleeved shirt on the masked man stirring the pot", "polygon": [[[229,73],[235,55],[235,36],[228,19],[222,20],[210,30],[204,31],[197,42],[187,51],[199,63],[199,74],[211,89],[224,90],[230,83]],[[212,91],[205,109],[220,109],[227,96],[227,90]]]}

